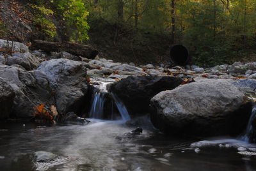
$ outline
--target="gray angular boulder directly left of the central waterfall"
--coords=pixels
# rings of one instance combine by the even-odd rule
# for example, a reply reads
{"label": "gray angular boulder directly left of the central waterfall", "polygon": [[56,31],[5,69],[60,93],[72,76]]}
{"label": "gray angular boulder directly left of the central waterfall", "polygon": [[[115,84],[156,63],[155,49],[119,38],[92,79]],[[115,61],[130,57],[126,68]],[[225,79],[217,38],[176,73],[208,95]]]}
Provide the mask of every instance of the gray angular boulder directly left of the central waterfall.
{"label": "gray angular boulder directly left of the central waterfall", "polygon": [[51,59],[38,67],[37,70],[45,73],[54,89],[58,112],[78,113],[83,108],[88,89],[85,64],[68,59]]}

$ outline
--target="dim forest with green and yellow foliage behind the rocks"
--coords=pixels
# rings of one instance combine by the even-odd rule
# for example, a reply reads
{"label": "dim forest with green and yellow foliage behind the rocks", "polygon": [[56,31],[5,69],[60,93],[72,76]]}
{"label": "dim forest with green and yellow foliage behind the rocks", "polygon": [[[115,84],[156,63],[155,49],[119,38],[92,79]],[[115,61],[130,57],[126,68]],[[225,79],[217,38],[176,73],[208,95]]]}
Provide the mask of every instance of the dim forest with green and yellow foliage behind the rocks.
{"label": "dim forest with green and yellow foliage behind the rocks", "polygon": [[108,59],[137,64],[168,63],[173,44],[185,45],[191,53],[190,62],[199,66],[256,61],[255,0],[10,3],[16,4],[16,16],[31,29],[19,36],[1,15],[1,38],[27,43],[32,39],[76,41],[93,45]]}

